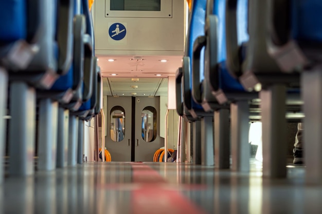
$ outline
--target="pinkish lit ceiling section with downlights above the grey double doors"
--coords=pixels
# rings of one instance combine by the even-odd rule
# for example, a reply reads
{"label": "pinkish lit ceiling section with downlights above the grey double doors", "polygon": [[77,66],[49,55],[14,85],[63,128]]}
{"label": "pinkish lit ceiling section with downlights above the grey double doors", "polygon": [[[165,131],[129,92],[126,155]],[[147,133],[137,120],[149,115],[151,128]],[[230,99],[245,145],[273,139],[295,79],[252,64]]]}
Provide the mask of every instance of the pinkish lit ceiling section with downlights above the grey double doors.
{"label": "pinkish lit ceiling section with downlights above the grey double doors", "polygon": [[[104,78],[103,93],[106,95],[166,96],[168,76],[175,76],[182,65],[182,56],[98,56],[98,65]],[[114,60],[110,62],[109,60]],[[161,62],[160,60],[167,60]],[[116,76],[112,76],[116,74]],[[156,76],[160,74],[160,76]],[[133,82],[132,78],[139,81]],[[134,89],[131,86],[136,85]],[[105,88],[106,87],[106,88]]]}

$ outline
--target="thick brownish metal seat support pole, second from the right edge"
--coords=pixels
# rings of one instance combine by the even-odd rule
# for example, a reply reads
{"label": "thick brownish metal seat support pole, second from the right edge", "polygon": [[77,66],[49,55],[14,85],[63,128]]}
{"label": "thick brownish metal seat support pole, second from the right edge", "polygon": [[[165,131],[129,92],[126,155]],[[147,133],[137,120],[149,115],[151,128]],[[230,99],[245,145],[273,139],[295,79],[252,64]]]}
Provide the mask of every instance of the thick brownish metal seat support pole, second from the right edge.
{"label": "thick brownish metal seat support pole, second from the right edge", "polygon": [[287,121],[285,119],[286,87],[275,84],[259,93],[261,99],[263,176],[287,176]]}

